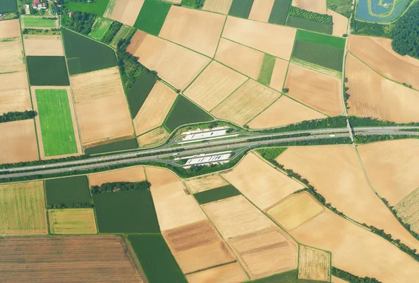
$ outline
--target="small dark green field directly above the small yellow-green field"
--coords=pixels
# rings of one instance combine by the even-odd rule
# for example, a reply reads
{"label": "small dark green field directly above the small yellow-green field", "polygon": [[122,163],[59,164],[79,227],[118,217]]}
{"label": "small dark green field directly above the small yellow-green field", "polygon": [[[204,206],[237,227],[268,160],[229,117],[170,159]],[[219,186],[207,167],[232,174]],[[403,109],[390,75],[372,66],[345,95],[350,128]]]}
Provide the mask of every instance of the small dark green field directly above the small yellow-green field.
{"label": "small dark green field directly above the small yellow-green field", "polygon": [[47,205],[90,203],[87,176],[45,180]]}

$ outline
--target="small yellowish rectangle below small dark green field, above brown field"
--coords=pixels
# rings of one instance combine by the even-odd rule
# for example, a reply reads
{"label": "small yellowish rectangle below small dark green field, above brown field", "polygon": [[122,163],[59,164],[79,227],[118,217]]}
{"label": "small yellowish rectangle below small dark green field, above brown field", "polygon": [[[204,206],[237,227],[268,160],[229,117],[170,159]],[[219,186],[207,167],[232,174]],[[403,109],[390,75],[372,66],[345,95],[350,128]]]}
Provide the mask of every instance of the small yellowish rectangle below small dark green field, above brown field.
{"label": "small yellowish rectangle below small dark green field, above brown field", "polygon": [[52,234],[96,234],[96,221],[92,208],[48,210]]}

